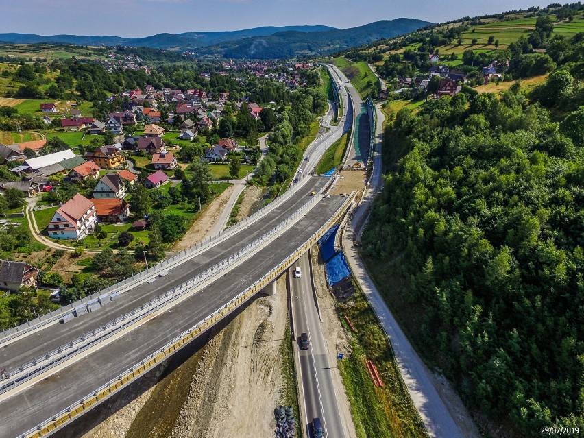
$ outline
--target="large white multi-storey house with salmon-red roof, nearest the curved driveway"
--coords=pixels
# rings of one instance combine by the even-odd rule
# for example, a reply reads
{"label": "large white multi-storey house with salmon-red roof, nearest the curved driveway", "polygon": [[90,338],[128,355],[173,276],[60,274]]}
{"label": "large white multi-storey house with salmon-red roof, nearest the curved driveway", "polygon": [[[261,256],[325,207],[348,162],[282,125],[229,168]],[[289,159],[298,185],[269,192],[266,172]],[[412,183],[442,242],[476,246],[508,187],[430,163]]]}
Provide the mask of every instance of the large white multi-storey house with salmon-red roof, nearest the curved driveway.
{"label": "large white multi-storey house with salmon-red roof, nearest the curved driveway", "polygon": [[96,221],[93,201],[77,193],[55,212],[47,232],[53,239],[83,239]]}

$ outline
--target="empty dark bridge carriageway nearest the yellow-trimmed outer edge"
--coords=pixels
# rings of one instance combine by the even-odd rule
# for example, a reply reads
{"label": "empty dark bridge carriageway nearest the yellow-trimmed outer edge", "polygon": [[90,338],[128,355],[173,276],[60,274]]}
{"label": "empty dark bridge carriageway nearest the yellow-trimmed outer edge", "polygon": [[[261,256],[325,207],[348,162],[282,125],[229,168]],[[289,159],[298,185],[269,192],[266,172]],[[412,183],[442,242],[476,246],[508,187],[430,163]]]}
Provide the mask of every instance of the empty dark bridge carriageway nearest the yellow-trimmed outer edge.
{"label": "empty dark bridge carriageway nearest the yellow-trimmed outer edge", "polygon": [[287,258],[326,223],[345,200],[345,197],[322,199],[278,239],[180,305],[134,328],[120,339],[104,343],[94,354],[81,358],[36,385],[1,400],[0,437],[16,437],[36,427],[202,321]]}

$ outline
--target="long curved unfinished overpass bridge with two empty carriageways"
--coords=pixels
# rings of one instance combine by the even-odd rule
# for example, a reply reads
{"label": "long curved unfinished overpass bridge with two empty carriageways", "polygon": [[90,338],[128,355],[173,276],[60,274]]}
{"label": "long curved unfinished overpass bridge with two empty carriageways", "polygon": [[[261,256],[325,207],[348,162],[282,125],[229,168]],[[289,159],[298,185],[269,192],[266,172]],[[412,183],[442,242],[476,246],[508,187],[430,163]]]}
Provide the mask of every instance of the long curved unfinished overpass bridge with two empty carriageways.
{"label": "long curved unfinished overpass bridge with two empty carriageways", "polygon": [[[344,121],[311,144],[305,171],[342,136]],[[326,195],[329,183],[304,173],[282,200],[223,236],[5,333],[0,437],[53,434],[269,287],[350,208],[352,195]]]}

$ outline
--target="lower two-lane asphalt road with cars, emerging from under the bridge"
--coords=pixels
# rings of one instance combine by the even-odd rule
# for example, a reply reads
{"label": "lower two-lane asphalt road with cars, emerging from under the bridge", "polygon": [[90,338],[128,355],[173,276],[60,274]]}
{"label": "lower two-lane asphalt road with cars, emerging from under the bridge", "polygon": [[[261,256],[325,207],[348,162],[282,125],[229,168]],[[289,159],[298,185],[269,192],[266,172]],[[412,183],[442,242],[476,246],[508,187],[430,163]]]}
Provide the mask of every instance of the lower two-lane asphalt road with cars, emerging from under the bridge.
{"label": "lower two-lane asphalt road with cars, emerging from under the bridge", "polygon": [[[292,270],[299,266],[300,278],[294,278]],[[311,282],[311,268],[308,254],[304,254],[290,269],[291,300],[293,300],[293,326],[296,339],[298,363],[300,363],[299,385],[304,398],[306,435],[311,437],[311,422],[319,417],[323,423],[324,436],[345,437],[343,422],[339,413],[337,396],[332,382],[328,349],[321,330],[321,322],[315,302],[315,291]],[[300,348],[300,336],[308,334],[310,348]],[[336,364],[332,364],[336,366]]]}

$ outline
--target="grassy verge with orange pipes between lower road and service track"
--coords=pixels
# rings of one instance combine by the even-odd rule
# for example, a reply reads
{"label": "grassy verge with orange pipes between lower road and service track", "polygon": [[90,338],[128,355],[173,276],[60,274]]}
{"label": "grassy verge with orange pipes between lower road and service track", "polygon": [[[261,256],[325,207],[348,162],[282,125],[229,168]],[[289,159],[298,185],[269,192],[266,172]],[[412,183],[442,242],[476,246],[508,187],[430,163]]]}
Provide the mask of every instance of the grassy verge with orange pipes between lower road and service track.
{"label": "grassy verge with orange pipes between lower road and service track", "polygon": [[[402,382],[389,339],[355,284],[356,293],[339,304],[339,317],[350,332],[344,315],[357,332],[352,335],[352,354],[339,361],[339,370],[351,404],[351,413],[359,438],[425,438],[424,424]],[[344,314],[344,315],[343,315]],[[373,361],[383,387],[375,387],[366,361]]]}

